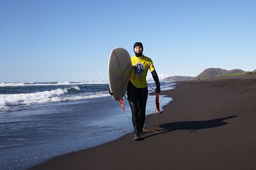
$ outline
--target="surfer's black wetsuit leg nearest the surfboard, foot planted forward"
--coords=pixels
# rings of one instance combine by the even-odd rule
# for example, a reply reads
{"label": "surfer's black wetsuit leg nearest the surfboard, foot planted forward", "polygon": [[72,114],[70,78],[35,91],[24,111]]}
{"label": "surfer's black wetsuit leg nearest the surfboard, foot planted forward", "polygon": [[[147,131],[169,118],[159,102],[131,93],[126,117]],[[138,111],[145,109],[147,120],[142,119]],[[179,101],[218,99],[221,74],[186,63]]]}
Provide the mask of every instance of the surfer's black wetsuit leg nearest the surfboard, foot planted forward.
{"label": "surfer's black wetsuit leg nearest the surfboard, foot planted forward", "polygon": [[[136,135],[140,136],[138,93],[139,93],[138,88],[136,88],[131,82],[129,82],[128,88],[127,88],[127,96],[128,96],[128,100],[129,100],[129,105],[131,107],[132,123],[133,123],[134,131],[135,131]],[[135,140],[137,140],[137,139],[135,139]]]}

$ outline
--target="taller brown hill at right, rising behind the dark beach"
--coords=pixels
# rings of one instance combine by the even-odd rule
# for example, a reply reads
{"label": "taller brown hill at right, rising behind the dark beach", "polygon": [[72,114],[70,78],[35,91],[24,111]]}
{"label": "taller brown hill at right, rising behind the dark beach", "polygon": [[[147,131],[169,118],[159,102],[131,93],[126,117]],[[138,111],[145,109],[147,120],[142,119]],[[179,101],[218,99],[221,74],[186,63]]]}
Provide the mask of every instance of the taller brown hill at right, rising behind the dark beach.
{"label": "taller brown hill at right, rising behind the dark beach", "polygon": [[235,74],[235,73],[242,73],[244,72],[241,69],[233,69],[233,70],[224,70],[222,68],[207,68],[201,74],[199,74],[196,79],[206,79],[206,78],[213,78],[225,74]]}

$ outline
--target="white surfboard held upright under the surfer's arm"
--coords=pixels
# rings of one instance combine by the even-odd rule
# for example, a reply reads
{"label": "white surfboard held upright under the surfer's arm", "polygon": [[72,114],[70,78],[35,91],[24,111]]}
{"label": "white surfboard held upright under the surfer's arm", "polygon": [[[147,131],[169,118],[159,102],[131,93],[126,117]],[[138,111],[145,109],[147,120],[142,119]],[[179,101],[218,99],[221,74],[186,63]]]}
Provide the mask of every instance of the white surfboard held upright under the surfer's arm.
{"label": "white surfboard held upright under the surfer's arm", "polygon": [[131,57],[125,48],[114,48],[108,60],[108,82],[113,99],[122,99],[131,76]]}

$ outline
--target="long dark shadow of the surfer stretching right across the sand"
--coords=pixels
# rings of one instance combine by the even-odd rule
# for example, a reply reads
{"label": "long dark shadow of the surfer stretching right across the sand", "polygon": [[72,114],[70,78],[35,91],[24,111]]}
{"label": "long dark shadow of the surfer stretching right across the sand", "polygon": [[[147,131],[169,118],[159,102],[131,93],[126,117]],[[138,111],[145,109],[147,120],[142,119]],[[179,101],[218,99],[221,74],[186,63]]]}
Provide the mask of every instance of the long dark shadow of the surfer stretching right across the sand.
{"label": "long dark shadow of the surfer stretching right across the sand", "polygon": [[[228,116],[224,118],[212,119],[212,120],[206,120],[206,121],[187,121],[187,122],[166,123],[166,124],[160,125],[161,134],[172,132],[174,130],[192,130],[191,133],[193,133],[195,130],[198,130],[198,129],[219,127],[219,126],[227,125],[227,122],[223,122],[224,120],[232,119],[234,117],[237,117],[237,116]],[[142,139],[146,139],[148,137],[158,135],[158,134],[159,133],[154,133],[150,136],[145,136]]]}

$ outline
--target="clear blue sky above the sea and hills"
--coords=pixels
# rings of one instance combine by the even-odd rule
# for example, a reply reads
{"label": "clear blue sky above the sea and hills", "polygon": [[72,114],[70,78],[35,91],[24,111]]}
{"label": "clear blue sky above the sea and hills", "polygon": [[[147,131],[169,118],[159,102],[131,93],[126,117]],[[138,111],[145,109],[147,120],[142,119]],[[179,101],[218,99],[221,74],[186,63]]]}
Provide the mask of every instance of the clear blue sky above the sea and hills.
{"label": "clear blue sky above the sea and hills", "polygon": [[161,76],[256,69],[255,0],[0,0],[0,23],[0,82],[107,79],[137,41]]}

